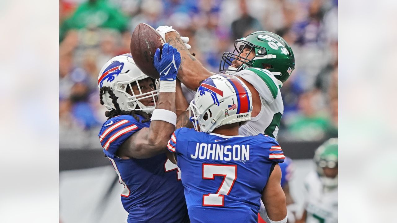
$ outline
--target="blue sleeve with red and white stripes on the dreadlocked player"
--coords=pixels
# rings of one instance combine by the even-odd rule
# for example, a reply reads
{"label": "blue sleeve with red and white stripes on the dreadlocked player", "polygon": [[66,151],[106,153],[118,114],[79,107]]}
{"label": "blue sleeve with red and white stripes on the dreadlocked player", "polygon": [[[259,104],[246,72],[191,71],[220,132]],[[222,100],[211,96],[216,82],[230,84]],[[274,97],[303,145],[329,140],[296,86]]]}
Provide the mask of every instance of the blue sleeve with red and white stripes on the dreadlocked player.
{"label": "blue sleeve with red and white stripes on the dreadlocked player", "polygon": [[137,131],[138,126],[126,119],[106,121],[98,134],[106,156],[114,158],[119,146]]}

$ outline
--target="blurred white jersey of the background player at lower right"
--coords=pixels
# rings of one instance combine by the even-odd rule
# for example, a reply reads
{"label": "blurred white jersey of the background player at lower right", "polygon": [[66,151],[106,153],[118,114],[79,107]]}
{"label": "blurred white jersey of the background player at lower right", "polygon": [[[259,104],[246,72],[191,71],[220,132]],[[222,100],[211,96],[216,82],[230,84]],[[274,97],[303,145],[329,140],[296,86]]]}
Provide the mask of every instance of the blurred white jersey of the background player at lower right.
{"label": "blurred white jersey of the background player at lower right", "polygon": [[306,188],[306,223],[338,222],[338,188],[324,190],[320,177],[311,171],[304,181]]}

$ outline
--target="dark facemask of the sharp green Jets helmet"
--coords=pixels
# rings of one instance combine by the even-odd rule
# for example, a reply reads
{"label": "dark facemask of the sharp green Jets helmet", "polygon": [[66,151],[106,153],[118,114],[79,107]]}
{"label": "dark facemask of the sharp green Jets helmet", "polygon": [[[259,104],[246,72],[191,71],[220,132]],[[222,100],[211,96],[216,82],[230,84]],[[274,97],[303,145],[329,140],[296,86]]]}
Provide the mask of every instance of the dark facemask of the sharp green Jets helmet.
{"label": "dark facemask of the sharp green Jets helmet", "polygon": [[[246,55],[243,54],[244,49],[249,49],[247,51],[248,53]],[[247,67],[252,67],[252,63],[254,58],[249,59],[248,56],[251,54],[251,52],[254,52],[255,56],[265,56],[266,55],[266,49],[254,45],[244,39],[239,39],[234,42],[234,50],[233,53],[231,52],[224,52],[222,55],[222,59],[219,65],[219,71],[221,73],[227,73],[231,74],[237,71],[240,71],[242,69],[245,69]],[[239,67],[232,67],[233,65],[233,60],[238,60],[241,63]]]}

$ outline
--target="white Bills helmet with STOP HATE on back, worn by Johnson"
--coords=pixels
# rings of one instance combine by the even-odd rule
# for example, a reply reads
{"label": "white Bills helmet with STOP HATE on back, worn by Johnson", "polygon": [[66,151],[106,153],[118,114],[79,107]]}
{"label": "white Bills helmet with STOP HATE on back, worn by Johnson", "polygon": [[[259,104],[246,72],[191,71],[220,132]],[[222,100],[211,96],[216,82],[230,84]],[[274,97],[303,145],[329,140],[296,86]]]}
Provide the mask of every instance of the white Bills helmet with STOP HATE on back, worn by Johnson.
{"label": "white Bills helmet with STOP HATE on back, worn by Johnson", "polygon": [[237,77],[217,74],[202,81],[189,114],[196,131],[211,133],[222,125],[251,120],[252,97]]}

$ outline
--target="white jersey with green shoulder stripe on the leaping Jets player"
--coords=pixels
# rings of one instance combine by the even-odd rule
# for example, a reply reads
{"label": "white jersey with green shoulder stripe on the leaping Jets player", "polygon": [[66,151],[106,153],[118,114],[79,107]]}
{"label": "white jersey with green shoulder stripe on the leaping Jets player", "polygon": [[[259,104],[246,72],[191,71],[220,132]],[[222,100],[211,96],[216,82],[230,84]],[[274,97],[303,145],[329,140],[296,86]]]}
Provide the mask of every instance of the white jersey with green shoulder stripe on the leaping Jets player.
{"label": "white jersey with green shoulder stripe on the leaping Jets player", "polygon": [[[247,68],[231,75],[239,76],[254,86],[262,101],[262,108],[259,114],[251,117],[251,121],[247,121],[239,128],[239,135],[264,134],[276,138],[281,115],[283,115],[284,111],[283,99],[281,98],[276,77],[270,71],[259,68]],[[186,100],[191,102],[196,91],[187,88],[183,84],[181,86]]]}

